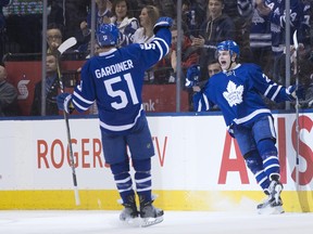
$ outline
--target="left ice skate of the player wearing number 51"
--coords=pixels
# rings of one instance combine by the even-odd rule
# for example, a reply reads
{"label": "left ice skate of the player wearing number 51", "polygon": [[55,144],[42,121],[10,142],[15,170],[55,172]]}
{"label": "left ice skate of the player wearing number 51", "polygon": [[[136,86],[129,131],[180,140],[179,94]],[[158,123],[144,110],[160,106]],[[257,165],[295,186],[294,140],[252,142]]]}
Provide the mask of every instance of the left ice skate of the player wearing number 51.
{"label": "left ice skate of the player wearing number 51", "polygon": [[138,218],[138,210],[136,206],[135,195],[127,197],[127,203],[122,204],[124,209],[120,214],[120,220],[130,225],[136,225]]}

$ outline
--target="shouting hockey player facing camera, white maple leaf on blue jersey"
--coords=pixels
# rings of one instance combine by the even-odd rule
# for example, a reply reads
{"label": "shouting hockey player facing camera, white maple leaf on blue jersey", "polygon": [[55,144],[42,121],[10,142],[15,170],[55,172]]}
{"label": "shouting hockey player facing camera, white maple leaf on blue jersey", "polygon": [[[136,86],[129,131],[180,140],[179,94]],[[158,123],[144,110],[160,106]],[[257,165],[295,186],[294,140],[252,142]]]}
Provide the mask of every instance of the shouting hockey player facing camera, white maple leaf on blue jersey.
{"label": "shouting hockey player facing camera, white maple leaf on blue jersey", "polygon": [[[217,44],[218,62],[223,72],[212,76],[205,87],[193,95],[195,109],[209,110],[214,104],[221,108],[227,129],[236,138],[247,167],[267,195],[258,205],[260,213],[281,213],[279,160],[271,110],[262,96],[276,101],[293,101],[302,89],[288,88],[270,80],[258,65],[239,64],[239,47],[227,40]],[[188,87],[192,87],[199,72],[187,72]]]}

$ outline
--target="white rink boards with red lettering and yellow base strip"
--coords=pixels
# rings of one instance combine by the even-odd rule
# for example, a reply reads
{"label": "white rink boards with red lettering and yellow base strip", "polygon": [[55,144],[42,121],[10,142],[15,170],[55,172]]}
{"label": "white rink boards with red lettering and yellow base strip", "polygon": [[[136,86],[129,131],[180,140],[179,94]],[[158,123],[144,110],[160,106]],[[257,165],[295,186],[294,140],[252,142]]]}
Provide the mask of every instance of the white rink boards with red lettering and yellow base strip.
{"label": "white rink boards with red lettering and yellow base strip", "polygon": [[[275,114],[286,211],[313,211],[313,114]],[[214,115],[149,116],[155,204],[165,210],[255,209],[264,198],[238,145]],[[80,206],[75,205],[64,119],[0,120],[0,209],[121,209],[101,152],[99,120],[71,118]],[[296,171],[299,171],[299,183]]]}

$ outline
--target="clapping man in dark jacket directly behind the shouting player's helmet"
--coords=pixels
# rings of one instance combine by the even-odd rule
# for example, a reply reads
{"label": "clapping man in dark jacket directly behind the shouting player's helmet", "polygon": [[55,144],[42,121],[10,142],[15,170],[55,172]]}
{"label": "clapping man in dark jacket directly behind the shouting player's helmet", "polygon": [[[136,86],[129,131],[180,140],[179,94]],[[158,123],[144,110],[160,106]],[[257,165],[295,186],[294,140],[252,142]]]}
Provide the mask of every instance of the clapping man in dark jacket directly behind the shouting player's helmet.
{"label": "clapping man in dark jacket directly behind the shouting player's helmet", "polygon": [[208,1],[209,18],[200,26],[199,37],[193,37],[192,46],[200,48],[201,77],[206,74],[208,61],[215,58],[216,44],[235,38],[233,20],[223,13],[224,0]]}

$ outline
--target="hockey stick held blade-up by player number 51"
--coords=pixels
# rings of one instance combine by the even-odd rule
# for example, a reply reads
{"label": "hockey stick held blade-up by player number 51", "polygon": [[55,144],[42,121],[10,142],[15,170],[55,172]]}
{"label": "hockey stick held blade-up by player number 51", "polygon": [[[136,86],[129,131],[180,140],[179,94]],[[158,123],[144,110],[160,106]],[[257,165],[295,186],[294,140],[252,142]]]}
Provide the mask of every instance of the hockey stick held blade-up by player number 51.
{"label": "hockey stick held blade-up by player number 51", "polygon": [[[71,37],[67,40],[65,40],[60,47],[58,48],[58,54],[57,54],[57,69],[58,69],[58,77],[59,77],[59,83],[60,83],[60,89],[61,92],[64,92],[64,84],[62,80],[62,74],[61,74],[61,68],[60,68],[60,56],[70,48],[74,47],[77,43],[76,38]],[[66,125],[66,133],[67,133],[67,143],[68,143],[68,151],[70,151],[70,160],[71,160],[71,168],[72,168],[72,176],[73,176],[73,183],[74,183],[74,193],[75,193],[75,203],[76,206],[80,205],[80,199],[79,199],[79,193],[77,188],[77,179],[76,179],[76,171],[75,171],[75,161],[74,161],[74,156],[73,156],[73,148],[72,148],[72,142],[71,142],[71,131],[70,131],[70,123],[68,123],[68,116],[66,112],[63,112],[64,119],[65,119],[65,125]]]}

